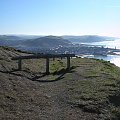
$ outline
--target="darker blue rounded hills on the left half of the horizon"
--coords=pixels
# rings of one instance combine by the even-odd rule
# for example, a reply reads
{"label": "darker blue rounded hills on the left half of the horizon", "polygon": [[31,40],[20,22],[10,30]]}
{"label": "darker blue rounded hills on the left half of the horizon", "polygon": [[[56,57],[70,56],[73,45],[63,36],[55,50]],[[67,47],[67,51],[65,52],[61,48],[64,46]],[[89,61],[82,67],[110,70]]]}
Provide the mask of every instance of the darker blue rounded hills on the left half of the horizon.
{"label": "darker blue rounded hills on the left half of the horizon", "polygon": [[[36,36],[37,37],[37,36]],[[24,38],[24,39],[23,39]],[[69,46],[71,42],[67,39],[57,36],[45,36],[45,37],[18,37],[18,36],[0,36],[0,45],[12,46],[17,48],[29,48],[29,47],[39,47],[39,48],[54,48],[58,46]]]}

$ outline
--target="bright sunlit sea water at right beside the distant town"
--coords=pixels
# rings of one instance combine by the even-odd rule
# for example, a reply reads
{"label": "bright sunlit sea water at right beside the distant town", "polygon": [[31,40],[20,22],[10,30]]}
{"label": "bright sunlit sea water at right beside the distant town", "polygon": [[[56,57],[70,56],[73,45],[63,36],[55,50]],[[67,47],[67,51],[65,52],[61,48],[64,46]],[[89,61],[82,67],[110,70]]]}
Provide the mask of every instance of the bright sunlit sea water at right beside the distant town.
{"label": "bright sunlit sea water at right beside the distant town", "polygon": [[[96,46],[103,46],[105,48],[108,47],[108,48],[120,49],[120,39],[115,39],[112,41],[93,42],[93,43],[87,43],[87,44],[96,45]],[[120,67],[120,53],[118,53],[118,55],[107,55],[107,56],[84,55],[83,57],[103,59],[106,61],[110,61],[111,63]]]}

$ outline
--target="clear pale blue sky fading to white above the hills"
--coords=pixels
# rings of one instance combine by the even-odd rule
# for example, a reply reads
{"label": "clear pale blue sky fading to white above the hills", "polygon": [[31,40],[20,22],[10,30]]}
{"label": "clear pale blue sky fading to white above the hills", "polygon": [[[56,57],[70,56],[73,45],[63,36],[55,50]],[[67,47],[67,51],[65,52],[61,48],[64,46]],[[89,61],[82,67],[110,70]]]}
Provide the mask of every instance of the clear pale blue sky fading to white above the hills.
{"label": "clear pale blue sky fading to white above the hills", "polygon": [[120,37],[120,0],[0,0],[0,34]]}

